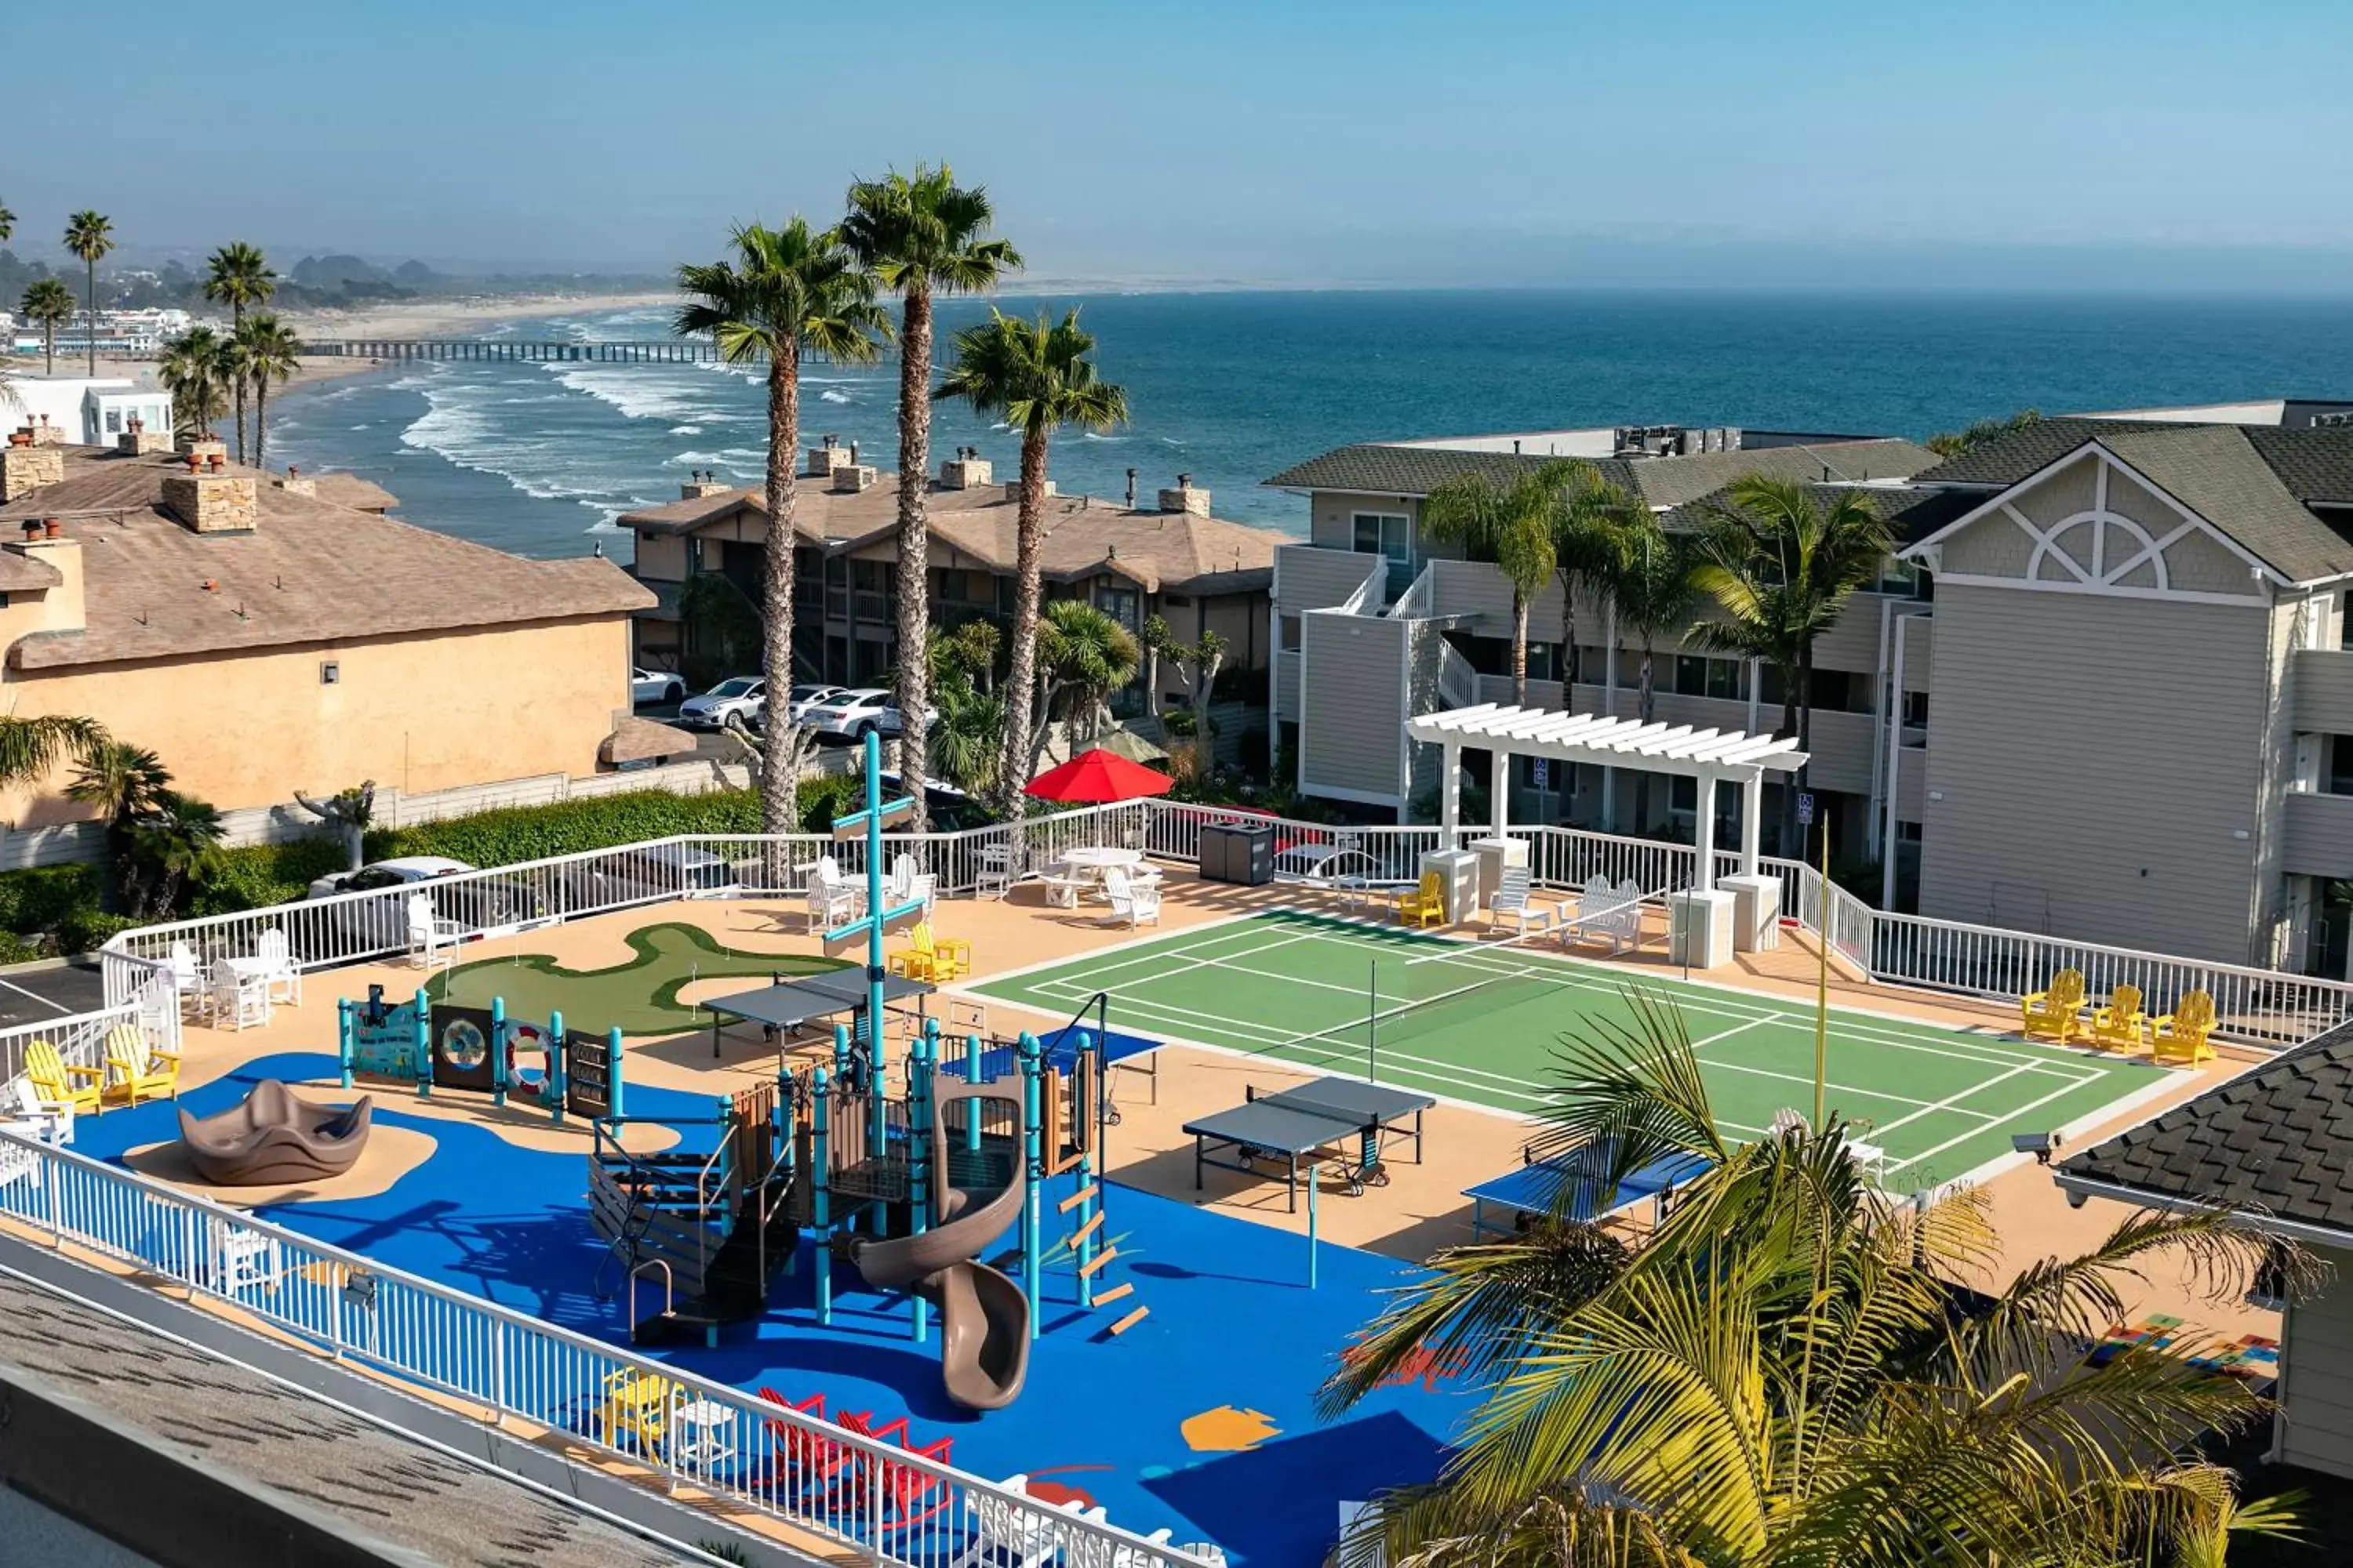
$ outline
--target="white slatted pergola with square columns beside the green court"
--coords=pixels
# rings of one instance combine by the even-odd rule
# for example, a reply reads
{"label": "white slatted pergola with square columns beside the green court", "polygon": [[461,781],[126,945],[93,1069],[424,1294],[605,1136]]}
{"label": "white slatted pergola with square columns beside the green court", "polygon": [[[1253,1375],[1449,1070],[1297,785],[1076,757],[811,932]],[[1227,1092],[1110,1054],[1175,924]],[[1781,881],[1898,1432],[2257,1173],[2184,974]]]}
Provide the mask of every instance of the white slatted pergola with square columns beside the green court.
{"label": "white slatted pergola with square columns beside the green court", "polygon": [[1447,844],[1461,835],[1461,759],[1464,748],[1497,757],[1494,835],[1511,827],[1508,757],[1548,757],[1553,762],[1588,762],[1605,769],[1649,769],[1699,780],[1699,865],[1697,891],[1715,886],[1715,785],[1741,785],[1741,875],[1758,875],[1758,823],[1765,816],[1765,773],[1793,773],[1805,766],[1805,752],[1788,736],[1751,736],[1737,729],[1694,729],[1692,724],[1642,724],[1640,719],[1605,719],[1598,712],[1548,712],[1544,708],[1504,708],[1478,703],[1407,719],[1405,733],[1445,748],[1440,785],[1440,825]]}

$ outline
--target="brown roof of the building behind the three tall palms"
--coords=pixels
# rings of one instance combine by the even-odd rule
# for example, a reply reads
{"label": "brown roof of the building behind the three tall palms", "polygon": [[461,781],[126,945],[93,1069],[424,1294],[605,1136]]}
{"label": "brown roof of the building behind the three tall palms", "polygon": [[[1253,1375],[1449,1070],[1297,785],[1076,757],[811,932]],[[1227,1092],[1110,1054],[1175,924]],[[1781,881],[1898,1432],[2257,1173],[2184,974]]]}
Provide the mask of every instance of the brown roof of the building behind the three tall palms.
{"label": "brown roof of the building behind the three tall palms", "polygon": [[[621,517],[647,534],[685,534],[748,505],[765,512],[758,491],[732,491],[699,501],[673,501]],[[932,567],[962,571],[1014,569],[1019,508],[1002,487],[934,489]],[[795,496],[793,524],[809,543],[828,543],[861,555],[889,555],[899,522],[899,477],[882,475],[854,496],[807,482]],[[1146,592],[1247,592],[1273,581],[1275,545],[1299,543],[1289,534],[1252,529],[1195,512],[1129,512],[1125,505],[1087,496],[1047,501],[1045,564],[1049,581],[1099,574],[1132,578]],[[953,557],[948,555],[953,552]],[[965,557],[965,559],[955,559]]]}

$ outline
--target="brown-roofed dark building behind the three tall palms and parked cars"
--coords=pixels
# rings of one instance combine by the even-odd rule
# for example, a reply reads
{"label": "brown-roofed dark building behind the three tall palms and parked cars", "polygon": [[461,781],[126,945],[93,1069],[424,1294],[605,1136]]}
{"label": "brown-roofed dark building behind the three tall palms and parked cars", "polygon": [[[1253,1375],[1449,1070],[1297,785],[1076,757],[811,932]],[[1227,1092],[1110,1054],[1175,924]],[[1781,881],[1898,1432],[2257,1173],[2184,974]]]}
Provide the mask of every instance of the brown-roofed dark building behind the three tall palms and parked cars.
{"label": "brown-roofed dark building behind the three tall palms and parked cars", "polygon": [[[1085,599],[1129,632],[1160,616],[1181,642],[1219,632],[1226,668],[1252,696],[1264,691],[1268,661],[1268,588],[1285,534],[1209,515],[1209,491],[1176,475],[1151,505],[1139,496],[1049,496],[1042,545],[1047,599]],[[1016,487],[991,463],[958,454],[929,487],[932,623],[953,628],[986,618],[1000,625],[1014,609]],[[812,447],[795,498],[795,663],[800,679],[842,686],[887,684],[899,637],[899,475],[859,463],[856,447]],[[708,663],[680,595],[696,576],[718,574],[746,604],[760,599],[767,559],[762,491],[694,480],[668,505],[624,512],[638,536],[635,576],[656,604],[638,614],[638,663],[694,668]],[[729,675],[732,670],[696,670]],[[1160,712],[1188,701],[1184,677],[1162,670],[1162,689],[1139,679],[1115,712]]]}

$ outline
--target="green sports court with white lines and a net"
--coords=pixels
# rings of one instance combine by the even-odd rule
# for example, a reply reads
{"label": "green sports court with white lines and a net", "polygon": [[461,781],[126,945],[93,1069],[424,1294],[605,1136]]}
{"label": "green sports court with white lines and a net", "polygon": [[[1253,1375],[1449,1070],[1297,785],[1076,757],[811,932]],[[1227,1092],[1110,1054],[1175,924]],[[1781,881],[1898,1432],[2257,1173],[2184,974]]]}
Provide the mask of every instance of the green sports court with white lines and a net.
{"label": "green sports court with white lines and a net", "polygon": [[[1812,1112],[1812,1006],[1518,943],[1271,912],[974,990],[1059,1016],[1108,992],[1113,1030],[1527,1114],[1558,1084],[1562,1032],[1633,1018],[1628,985],[1682,1011],[1727,1135],[1755,1138],[1784,1107]],[[1845,1009],[1831,1011],[1828,1041],[1831,1110],[1868,1124],[1857,1135],[1887,1152],[1892,1190],[1960,1178],[2009,1154],[2012,1133],[2047,1133],[2165,1077],[2148,1063]]]}

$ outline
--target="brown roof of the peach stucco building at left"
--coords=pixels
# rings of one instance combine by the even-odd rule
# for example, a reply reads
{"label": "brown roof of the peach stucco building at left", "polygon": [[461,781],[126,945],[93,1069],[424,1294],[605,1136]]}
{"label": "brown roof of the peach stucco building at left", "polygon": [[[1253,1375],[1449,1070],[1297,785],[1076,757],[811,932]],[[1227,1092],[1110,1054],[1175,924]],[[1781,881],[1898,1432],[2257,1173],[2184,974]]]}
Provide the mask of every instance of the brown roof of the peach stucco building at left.
{"label": "brown roof of the peach stucco building at left", "polygon": [[268,484],[254,531],[193,534],[158,505],[172,470],[75,454],[61,484],[0,508],[0,534],[16,517],[64,517],[82,545],[85,630],[21,637],[12,668],[621,616],[654,602],[607,559],[522,559]]}

